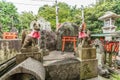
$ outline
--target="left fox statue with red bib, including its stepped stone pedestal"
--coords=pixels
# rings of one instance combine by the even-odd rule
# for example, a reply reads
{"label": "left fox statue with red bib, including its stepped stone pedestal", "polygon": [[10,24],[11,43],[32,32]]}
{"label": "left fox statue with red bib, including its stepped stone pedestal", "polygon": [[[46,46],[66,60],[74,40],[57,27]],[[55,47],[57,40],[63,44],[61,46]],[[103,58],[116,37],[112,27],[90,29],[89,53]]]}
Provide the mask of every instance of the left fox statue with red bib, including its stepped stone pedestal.
{"label": "left fox statue with red bib, including its stepped stone pedestal", "polygon": [[32,57],[40,62],[43,62],[43,54],[40,52],[38,40],[40,37],[40,24],[33,21],[33,30],[29,34],[23,32],[21,53],[16,55],[16,63],[19,64],[28,57]]}

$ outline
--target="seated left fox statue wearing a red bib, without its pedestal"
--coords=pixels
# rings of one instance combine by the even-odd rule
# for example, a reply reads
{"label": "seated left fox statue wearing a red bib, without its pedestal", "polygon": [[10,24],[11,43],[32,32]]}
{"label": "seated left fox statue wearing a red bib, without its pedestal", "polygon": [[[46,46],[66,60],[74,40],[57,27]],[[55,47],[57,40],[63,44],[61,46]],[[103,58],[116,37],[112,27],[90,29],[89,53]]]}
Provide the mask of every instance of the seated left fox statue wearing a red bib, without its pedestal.
{"label": "seated left fox statue wearing a red bib, without its pedestal", "polygon": [[32,22],[33,27],[30,32],[22,32],[22,48],[32,47],[38,44],[40,38],[40,24],[37,21]]}

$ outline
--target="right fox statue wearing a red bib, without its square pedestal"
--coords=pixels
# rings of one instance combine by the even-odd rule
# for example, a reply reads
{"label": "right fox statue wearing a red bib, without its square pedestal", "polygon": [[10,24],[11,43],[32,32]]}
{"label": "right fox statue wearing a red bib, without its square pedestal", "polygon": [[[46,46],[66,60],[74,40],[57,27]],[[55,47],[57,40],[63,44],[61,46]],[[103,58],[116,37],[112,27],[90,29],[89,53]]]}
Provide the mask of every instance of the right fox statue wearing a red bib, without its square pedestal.
{"label": "right fox statue wearing a red bib, without its square pedestal", "polygon": [[82,48],[90,48],[90,31],[86,29],[86,24],[83,22],[79,28],[79,34],[78,34],[78,46],[75,49],[75,56],[79,56],[79,53],[81,52]]}

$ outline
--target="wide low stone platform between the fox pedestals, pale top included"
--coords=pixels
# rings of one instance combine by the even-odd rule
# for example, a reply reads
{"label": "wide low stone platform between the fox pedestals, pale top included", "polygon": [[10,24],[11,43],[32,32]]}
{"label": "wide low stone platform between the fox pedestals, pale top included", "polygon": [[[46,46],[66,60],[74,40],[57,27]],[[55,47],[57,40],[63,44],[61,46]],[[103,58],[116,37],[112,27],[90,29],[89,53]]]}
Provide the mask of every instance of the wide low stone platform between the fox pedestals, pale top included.
{"label": "wide low stone platform between the fox pedestals, pale top included", "polygon": [[80,61],[73,53],[54,51],[44,57],[46,80],[79,80]]}

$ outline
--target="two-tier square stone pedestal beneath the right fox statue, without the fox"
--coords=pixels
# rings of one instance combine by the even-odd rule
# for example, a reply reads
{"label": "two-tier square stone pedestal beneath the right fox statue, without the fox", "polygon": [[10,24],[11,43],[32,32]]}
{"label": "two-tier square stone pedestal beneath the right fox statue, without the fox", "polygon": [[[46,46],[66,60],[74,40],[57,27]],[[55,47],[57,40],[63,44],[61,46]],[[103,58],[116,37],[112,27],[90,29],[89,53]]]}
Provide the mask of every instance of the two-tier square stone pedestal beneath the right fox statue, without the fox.
{"label": "two-tier square stone pedestal beneath the right fox statue, without the fox", "polygon": [[95,48],[81,48],[80,57],[80,79],[89,79],[98,76],[98,61]]}

